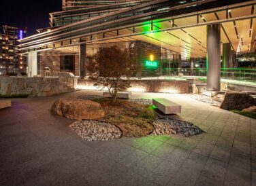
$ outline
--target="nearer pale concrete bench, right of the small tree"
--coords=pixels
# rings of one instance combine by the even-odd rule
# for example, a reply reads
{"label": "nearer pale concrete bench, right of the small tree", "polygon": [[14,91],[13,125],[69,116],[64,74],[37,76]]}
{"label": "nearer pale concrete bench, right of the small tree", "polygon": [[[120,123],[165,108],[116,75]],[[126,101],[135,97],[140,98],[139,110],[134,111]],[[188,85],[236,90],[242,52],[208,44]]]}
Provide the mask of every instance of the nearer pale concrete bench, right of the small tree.
{"label": "nearer pale concrete bench, right of the small tree", "polygon": [[165,114],[181,113],[181,105],[173,103],[165,98],[154,98],[153,105]]}

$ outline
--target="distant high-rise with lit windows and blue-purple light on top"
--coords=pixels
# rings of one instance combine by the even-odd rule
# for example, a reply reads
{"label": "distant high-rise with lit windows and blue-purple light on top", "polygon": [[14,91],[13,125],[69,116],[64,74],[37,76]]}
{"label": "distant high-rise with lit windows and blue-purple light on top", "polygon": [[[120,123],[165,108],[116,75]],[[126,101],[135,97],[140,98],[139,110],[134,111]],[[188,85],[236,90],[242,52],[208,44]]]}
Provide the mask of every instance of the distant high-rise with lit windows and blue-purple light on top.
{"label": "distant high-rise with lit windows and blue-purple light on top", "polygon": [[18,54],[18,39],[27,36],[27,29],[3,26],[0,33],[0,75],[26,73],[27,59]]}

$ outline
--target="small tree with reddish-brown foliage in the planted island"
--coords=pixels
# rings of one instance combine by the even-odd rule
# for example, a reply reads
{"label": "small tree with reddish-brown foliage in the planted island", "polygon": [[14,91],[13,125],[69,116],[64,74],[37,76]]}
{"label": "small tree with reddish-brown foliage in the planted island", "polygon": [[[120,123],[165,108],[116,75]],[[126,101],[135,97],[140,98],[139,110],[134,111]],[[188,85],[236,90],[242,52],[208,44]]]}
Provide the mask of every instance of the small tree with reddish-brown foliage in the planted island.
{"label": "small tree with reddish-brown foliage in the planted island", "polygon": [[[127,49],[121,50],[116,45],[111,48],[101,48],[95,54],[95,62],[87,66],[91,72],[89,79],[95,86],[107,87],[113,100],[116,101],[118,90],[129,88],[129,78],[135,73],[135,56],[129,55]],[[121,81],[121,77],[126,77]]]}

